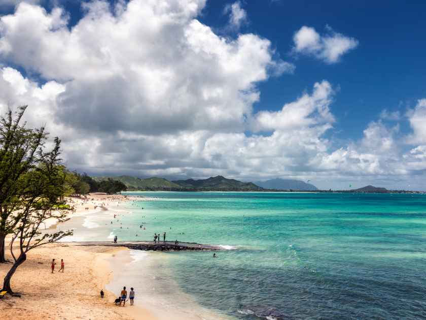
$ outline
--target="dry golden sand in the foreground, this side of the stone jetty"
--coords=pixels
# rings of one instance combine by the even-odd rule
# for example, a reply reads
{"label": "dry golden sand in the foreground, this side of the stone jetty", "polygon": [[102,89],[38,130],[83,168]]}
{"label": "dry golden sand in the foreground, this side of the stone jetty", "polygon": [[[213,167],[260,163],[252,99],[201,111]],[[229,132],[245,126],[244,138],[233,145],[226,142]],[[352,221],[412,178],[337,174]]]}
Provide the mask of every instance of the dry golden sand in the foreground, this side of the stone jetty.
{"label": "dry golden sand in the foreground, this side of the stone jetty", "polygon": [[[155,319],[149,311],[129,302],[125,307],[114,305],[119,293],[105,290],[112,277],[108,260],[120,250],[127,249],[49,244],[29,251],[11,283],[12,289],[23,295],[0,300],[2,319]],[[53,258],[57,268],[52,274]],[[57,271],[61,259],[64,273]],[[2,279],[10,266],[0,264]]]}

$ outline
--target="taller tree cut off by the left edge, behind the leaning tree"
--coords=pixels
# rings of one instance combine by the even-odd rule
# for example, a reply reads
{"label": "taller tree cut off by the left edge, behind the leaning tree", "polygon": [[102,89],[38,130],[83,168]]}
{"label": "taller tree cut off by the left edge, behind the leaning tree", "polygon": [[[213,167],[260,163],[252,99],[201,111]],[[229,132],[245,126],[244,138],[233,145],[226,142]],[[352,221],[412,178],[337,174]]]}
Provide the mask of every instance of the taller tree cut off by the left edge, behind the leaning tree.
{"label": "taller tree cut off by the left edge, behind the leaning tree", "polygon": [[15,115],[9,109],[0,118],[0,263],[5,260],[5,238],[18,221],[13,212],[21,205],[19,194],[25,185],[20,178],[40,163],[37,152],[46,140],[44,127],[25,128],[20,124],[27,106],[18,108]]}

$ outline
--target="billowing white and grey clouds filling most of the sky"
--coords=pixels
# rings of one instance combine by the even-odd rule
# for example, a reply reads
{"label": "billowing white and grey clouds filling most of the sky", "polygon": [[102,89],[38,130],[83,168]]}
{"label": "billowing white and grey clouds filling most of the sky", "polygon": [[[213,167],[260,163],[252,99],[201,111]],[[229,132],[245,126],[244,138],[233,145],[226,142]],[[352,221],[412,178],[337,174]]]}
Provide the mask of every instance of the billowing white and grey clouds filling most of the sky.
{"label": "billowing white and grey clouds filling most of the sky", "polygon": [[[398,115],[411,135],[402,136],[399,119],[384,112],[360,141],[343,146],[327,138],[337,121],[336,84],[327,80],[275,110],[254,112],[259,83],[294,65],[274,58],[271,42],[258,35],[217,35],[197,19],[204,6],[132,0],[111,8],[95,1],[69,28],[63,9],[21,3],[0,20],[0,108],[29,104],[29,124],[47,123],[62,138],[67,166],[92,174],[396,187],[426,170],[426,100]],[[355,41],[308,27],[296,35],[298,52],[330,63]]]}

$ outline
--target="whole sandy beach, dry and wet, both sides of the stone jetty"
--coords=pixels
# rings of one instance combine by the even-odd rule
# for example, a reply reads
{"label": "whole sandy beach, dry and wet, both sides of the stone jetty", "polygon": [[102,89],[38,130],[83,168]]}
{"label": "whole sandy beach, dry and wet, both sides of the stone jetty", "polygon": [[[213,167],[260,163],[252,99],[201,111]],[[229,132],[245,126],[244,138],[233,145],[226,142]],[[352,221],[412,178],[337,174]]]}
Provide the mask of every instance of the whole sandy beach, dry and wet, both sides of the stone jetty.
{"label": "whole sandy beach, dry and wet, both sides of the stone jetty", "polygon": [[[102,231],[100,227],[103,223],[109,225],[114,215],[121,221],[124,215],[131,214],[130,202],[135,200],[156,199],[99,194],[90,194],[86,199],[68,199],[68,203],[75,208],[68,214],[70,220],[59,225],[55,220],[49,221],[45,232],[72,229],[75,235],[64,238],[63,242],[28,252],[27,260],[17,269],[11,283],[12,289],[23,295],[21,298],[6,296],[0,300],[2,315],[36,320],[224,318],[198,305],[191,296],[180,290],[169,274],[164,273],[162,266],[167,258],[163,253],[125,247],[78,245],[78,241],[88,241],[88,237],[99,236],[111,238],[112,241],[108,234],[96,232]],[[114,219],[114,223],[118,224],[118,221]],[[50,272],[53,258],[57,270],[61,259],[64,259],[64,273]],[[11,260],[9,250],[7,259]],[[0,264],[2,279],[10,266]],[[128,292],[132,285],[135,286],[135,305],[130,306],[129,301],[125,307],[114,305],[123,285],[127,286]],[[105,293],[103,299],[100,298],[101,289]],[[159,295],[158,291],[162,293]]]}

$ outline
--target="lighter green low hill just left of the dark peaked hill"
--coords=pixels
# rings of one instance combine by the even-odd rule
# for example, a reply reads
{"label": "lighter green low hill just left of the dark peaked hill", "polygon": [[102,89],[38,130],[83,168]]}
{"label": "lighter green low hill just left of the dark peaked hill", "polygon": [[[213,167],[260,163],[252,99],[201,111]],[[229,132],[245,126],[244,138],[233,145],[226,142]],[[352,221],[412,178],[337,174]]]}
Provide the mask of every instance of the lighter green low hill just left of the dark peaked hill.
{"label": "lighter green low hill just left of the dark peaked hill", "polygon": [[173,182],[167,179],[152,177],[147,179],[140,179],[132,176],[118,176],[118,177],[95,177],[96,181],[104,180],[107,178],[113,178],[123,182],[130,190],[166,190],[171,188],[180,188]]}

